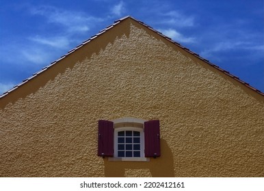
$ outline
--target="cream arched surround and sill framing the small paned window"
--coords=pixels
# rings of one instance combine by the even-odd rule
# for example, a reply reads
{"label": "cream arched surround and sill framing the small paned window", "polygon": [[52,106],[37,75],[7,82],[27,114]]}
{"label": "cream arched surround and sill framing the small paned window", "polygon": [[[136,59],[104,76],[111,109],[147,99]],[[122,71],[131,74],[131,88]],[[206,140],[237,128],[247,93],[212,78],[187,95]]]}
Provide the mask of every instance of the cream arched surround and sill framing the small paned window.
{"label": "cream arched surround and sill framing the small paned window", "polygon": [[[124,117],[115,119],[114,122],[114,157],[109,157],[109,161],[143,161],[148,162],[144,154],[144,119]],[[140,157],[118,157],[118,132],[119,131],[139,131],[140,132]]]}

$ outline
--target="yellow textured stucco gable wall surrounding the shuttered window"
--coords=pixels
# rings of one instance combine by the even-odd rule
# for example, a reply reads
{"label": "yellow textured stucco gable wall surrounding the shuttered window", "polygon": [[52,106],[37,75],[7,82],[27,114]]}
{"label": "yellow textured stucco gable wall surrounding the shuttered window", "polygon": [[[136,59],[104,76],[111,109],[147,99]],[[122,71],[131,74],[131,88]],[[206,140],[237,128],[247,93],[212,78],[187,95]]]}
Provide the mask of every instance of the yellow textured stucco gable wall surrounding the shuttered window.
{"label": "yellow textured stucco gable wall surrounding the shuttered window", "polygon": [[[0,106],[1,177],[264,176],[264,97],[130,18]],[[160,120],[160,158],[96,155],[121,117]]]}

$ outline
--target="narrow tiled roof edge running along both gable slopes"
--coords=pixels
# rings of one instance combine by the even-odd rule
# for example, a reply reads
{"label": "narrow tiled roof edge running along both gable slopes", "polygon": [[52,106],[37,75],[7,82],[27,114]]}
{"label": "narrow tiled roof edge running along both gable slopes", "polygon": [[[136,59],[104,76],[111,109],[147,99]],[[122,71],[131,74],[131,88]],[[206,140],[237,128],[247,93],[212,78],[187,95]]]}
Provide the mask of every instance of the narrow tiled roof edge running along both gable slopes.
{"label": "narrow tiled roof edge running along both gable slopes", "polygon": [[105,27],[105,29],[102,29],[101,31],[99,31],[98,33],[96,33],[95,35],[92,35],[91,38],[89,38],[88,40],[84,40],[81,44],[77,45],[75,48],[72,48],[71,50],[68,50],[68,53],[66,53],[66,55],[62,55],[62,57],[60,57],[60,59],[57,59],[53,62],[51,62],[49,65],[45,66],[44,68],[42,68],[42,70],[35,72],[34,74],[32,74],[32,76],[30,76],[29,78],[26,78],[25,80],[22,81],[22,83],[19,83],[18,85],[15,85],[12,89],[5,91],[2,95],[0,95],[0,99],[5,97],[5,95],[8,95],[8,93],[14,91],[15,89],[17,89],[18,87],[21,87],[22,85],[24,85],[25,83],[27,83],[29,80],[35,78],[36,76],[38,76],[39,74],[41,74],[42,72],[48,70],[49,68],[51,68],[51,66],[55,65],[55,63],[61,61],[62,59],[64,59],[65,57],[67,57],[68,55],[74,53],[77,49],[81,48],[83,45],[91,42],[92,40],[94,40],[95,38],[97,38],[99,35],[105,33],[106,31],[108,31],[109,29],[111,29],[112,27],[118,25],[119,23],[121,23],[123,20],[127,20],[128,18],[131,18],[133,20],[135,20],[137,23],[140,23],[140,25],[144,25],[144,27],[147,27],[148,29],[150,29],[151,31],[154,31],[155,33],[157,33],[158,35],[161,35],[161,37],[165,38],[166,40],[172,42],[173,44],[175,44],[176,46],[183,48],[183,50],[185,50],[187,53],[190,53],[192,55],[194,55],[194,57],[197,57],[198,59],[204,61],[205,63],[211,65],[213,68],[216,68],[217,70],[219,70],[220,72],[223,72],[224,74],[226,74],[227,76],[230,76],[231,78],[237,80],[239,83],[245,85],[246,87],[252,89],[253,91],[255,91],[256,93],[259,93],[261,95],[264,96],[264,93],[262,91],[260,91],[259,89],[256,89],[254,87],[252,87],[251,85],[249,85],[249,83],[246,83],[245,81],[241,80],[239,77],[230,74],[230,72],[220,68],[218,65],[215,65],[213,63],[211,63],[209,60],[204,59],[203,57],[200,57],[200,55],[198,55],[197,53],[194,53],[192,50],[189,50],[189,48],[186,48],[185,46],[182,46],[181,44],[179,44],[178,42],[175,42],[174,40],[172,40],[171,38],[168,38],[168,36],[163,35],[163,33],[153,29],[153,27],[150,27],[149,25],[146,25],[144,22],[142,22],[141,20],[137,20],[136,18],[133,18],[132,16],[124,16],[123,18],[120,18],[118,20],[115,20],[114,23],[112,25],[109,25],[107,27]]}

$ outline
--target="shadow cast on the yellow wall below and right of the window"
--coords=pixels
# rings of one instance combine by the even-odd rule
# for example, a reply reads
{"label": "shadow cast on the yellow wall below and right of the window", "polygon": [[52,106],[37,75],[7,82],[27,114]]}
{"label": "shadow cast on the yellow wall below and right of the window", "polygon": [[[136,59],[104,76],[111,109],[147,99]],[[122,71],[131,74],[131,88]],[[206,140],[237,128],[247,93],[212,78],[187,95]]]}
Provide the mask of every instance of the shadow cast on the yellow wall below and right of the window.
{"label": "shadow cast on the yellow wall below and right of the window", "polygon": [[150,162],[113,162],[104,159],[105,177],[174,177],[170,147],[161,139],[161,156]]}

